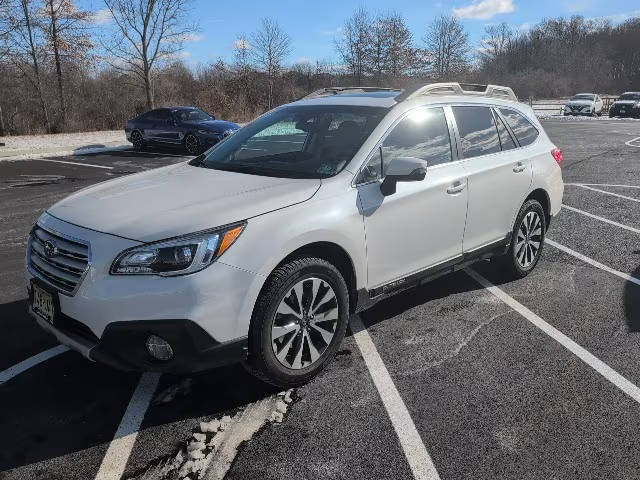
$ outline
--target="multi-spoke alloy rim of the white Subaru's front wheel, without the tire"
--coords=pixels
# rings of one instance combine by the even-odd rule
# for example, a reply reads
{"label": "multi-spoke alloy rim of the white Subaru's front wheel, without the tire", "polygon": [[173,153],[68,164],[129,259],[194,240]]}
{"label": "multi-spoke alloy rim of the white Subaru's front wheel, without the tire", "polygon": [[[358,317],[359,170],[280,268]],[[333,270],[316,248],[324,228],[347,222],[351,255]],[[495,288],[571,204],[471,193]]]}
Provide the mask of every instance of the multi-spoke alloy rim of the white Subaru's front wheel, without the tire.
{"label": "multi-spoke alloy rim of the white Subaru's front wheel, without the tire", "polygon": [[338,325],[338,299],[331,285],[312,277],[284,294],[271,324],[271,345],[286,368],[316,363],[331,344]]}

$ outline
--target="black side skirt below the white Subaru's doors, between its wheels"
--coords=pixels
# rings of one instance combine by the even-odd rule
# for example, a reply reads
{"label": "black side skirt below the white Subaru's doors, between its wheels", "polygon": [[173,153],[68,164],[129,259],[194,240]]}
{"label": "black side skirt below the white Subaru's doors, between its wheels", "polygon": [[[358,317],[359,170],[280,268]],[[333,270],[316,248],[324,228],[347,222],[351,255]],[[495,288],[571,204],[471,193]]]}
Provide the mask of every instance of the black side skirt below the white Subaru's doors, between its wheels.
{"label": "black side skirt below the white Subaru's doors, between its wheels", "polygon": [[418,285],[423,285],[435,280],[436,278],[442,277],[443,275],[448,275],[468,267],[480,260],[487,260],[491,257],[504,255],[507,253],[509,246],[511,245],[511,235],[511,232],[509,232],[502,240],[498,240],[470,252],[465,252],[452,260],[448,260],[447,262],[413,273],[407,277],[394,280],[393,282],[389,282],[372,290],[364,288],[358,290],[356,313],[366,310],[380,300],[395,295],[396,293]]}

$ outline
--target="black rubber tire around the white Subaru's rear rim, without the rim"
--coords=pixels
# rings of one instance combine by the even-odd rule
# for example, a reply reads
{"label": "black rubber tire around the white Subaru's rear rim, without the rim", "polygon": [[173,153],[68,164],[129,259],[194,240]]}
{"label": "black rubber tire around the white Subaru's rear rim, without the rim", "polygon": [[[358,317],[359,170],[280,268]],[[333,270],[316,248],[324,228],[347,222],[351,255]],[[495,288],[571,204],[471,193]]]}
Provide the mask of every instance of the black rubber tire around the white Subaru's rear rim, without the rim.
{"label": "black rubber tire around the white Subaru's rear rim, without the rim", "polygon": [[[533,243],[539,241],[539,248],[535,251],[535,255],[530,259],[530,263],[525,266],[523,265],[523,262],[519,260],[519,257],[523,254],[523,249],[527,249],[528,247],[527,245],[519,246],[519,234],[522,232],[521,228],[525,218],[532,212],[533,215],[537,216],[540,220],[540,233],[539,235],[530,235],[529,238],[532,239],[531,241]],[[542,255],[546,232],[547,219],[542,205],[540,205],[540,202],[537,200],[527,200],[520,208],[520,212],[516,217],[511,234],[511,245],[509,245],[509,250],[505,255],[499,257],[500,266],[504,269],[504,273],[508,278],[524,278],[533,271],[540,260],[540,256]],[[533,248],[531,248],[531,250],[532,249]],[[524,252],[525,256],[527,256],[527,260],[529,259],[529,251],[530,250]],[[526,261],[524,263],[526,263]]]}

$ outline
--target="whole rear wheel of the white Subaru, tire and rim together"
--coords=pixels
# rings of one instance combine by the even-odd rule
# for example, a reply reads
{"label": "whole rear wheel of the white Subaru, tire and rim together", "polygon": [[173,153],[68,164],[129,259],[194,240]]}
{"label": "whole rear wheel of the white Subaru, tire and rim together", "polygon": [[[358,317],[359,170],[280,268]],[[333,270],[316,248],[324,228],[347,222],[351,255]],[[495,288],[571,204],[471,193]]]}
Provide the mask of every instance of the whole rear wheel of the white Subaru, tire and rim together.
{"label": "whole rear wheel of the white Subaru, tire and rim together", "polygon": [[542,205],[537,200],[527,200],[516,218],[509,250],[501,258],[510,277],[526,277],[535,268],[542,254],[546,229]]}

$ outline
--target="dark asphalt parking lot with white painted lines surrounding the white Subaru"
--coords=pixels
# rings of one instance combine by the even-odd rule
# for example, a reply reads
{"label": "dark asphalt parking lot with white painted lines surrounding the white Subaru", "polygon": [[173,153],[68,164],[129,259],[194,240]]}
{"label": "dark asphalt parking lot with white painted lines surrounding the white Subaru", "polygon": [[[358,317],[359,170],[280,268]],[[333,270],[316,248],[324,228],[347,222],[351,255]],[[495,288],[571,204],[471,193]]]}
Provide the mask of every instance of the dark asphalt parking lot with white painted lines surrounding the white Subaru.
{"label": "dark asphalt parking lot with white painted lines surrounding the white Subaru", "polygon": [[[566,188],[536,270],[506,282],[484,262],[358,315],[226,478],[640,478],[640,122],[543,123]],[[277,395],[240,366],[158,378],[91,364],[50,350],[26,314],[25,238],[47,206],[184,159],[0,162],[0,479],[175,478],[161,467],[200,422]]]}

